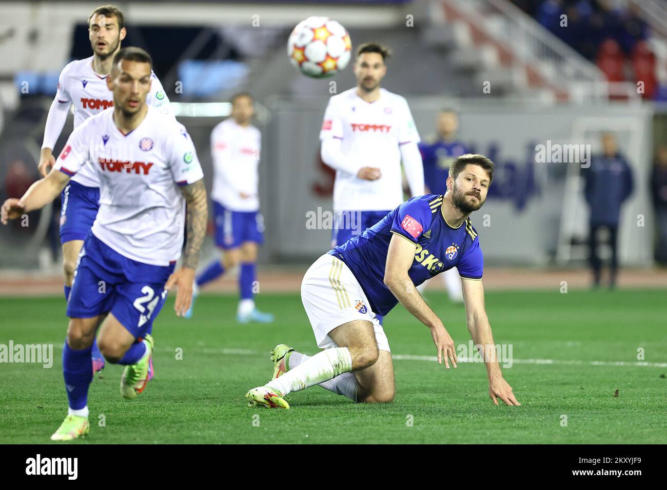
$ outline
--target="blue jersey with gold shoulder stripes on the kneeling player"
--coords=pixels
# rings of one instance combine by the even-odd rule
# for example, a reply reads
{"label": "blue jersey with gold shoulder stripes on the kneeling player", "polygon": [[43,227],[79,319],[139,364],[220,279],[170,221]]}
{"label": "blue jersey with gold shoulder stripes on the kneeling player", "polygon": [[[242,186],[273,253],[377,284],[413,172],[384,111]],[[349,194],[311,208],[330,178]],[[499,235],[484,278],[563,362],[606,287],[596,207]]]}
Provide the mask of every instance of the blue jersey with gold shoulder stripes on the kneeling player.
{"label": "blue jersey with gold shoulder stripes on the kneeling player", "polygon": [[451,227],[442,215],[442,203],[442,195],[413,197],[380,223],[328,252],[348,265],[376,314],[386,315],[398,303],[384,284],[387,251],[395,233],[417,247],[408,271],[414,285],[452,267],[461,277],[482,279],[484,259],[470,218]]}

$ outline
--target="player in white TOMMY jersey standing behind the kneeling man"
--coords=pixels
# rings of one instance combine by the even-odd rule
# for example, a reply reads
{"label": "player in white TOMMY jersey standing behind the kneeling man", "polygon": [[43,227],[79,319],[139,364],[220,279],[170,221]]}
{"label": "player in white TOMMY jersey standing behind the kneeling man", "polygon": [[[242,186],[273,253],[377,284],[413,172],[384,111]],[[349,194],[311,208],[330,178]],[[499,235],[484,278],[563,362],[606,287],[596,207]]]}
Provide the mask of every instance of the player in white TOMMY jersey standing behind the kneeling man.
{"label": "player in white TOMMY jersey standing behind the kneeling man", "polygon": [[380,86],[387,47],[357,49],[357,86],[329,99],[319,139],[321,158],[336,169],[331,246],[382,220],[404,201],[401,161],[413,196],[424,194],[420,136],[405,97]]}

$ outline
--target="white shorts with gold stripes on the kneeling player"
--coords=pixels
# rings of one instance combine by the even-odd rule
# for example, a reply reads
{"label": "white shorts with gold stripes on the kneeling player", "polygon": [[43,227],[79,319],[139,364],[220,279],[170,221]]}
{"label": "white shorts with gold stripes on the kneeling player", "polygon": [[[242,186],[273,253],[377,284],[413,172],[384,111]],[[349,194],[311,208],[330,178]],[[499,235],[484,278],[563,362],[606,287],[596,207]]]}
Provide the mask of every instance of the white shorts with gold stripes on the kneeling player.
{"label": "white shorts with gold stripes on the kneeling player", "polygon": [[308,315],[317,347],[338,347],[329,332],[348,321],[373,323],[378,349],[391,352],[387,336],[370,309],[364,290],[343,261],[325,253],[309,267],[301,282],[301,301]]}

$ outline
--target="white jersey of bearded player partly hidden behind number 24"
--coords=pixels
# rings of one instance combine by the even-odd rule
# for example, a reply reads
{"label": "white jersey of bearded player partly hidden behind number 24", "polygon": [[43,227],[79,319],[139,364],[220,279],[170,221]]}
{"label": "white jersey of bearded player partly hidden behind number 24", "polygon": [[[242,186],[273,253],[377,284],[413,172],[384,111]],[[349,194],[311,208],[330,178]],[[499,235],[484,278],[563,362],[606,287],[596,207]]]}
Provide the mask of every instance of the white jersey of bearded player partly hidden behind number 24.
{"label": "white jersey of bearded player partly hidden behind number 24", "polygon": [[[107,87],[107,75],[99,75],[93,70],[93,57],[77,59],[68,63],[60,72],[58,91],[55,98],[59,103],[74,105],[74,127],[83,123],[88,117],[113,107],[113,92]],[[162,84],[151,71],[151,91],[146,103],[159,107],[162,113],[171,115],[169,98]],[[87,187],[99,187],[95,173],[83,167],[72,180]]]}

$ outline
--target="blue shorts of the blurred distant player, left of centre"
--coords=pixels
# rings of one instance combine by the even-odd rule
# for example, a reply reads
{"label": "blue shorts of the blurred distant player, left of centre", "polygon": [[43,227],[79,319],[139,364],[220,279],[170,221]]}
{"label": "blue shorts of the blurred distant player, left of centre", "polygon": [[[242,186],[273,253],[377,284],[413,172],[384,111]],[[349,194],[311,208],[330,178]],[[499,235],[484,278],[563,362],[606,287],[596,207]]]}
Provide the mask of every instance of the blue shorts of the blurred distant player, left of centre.
{"label": "blue shorts of the blurred distant player, left of centre", "polygon": [[259,211],[231,211],[213,201],[215,245],[235,249],[244,241],[264,243],[264,217]]}

